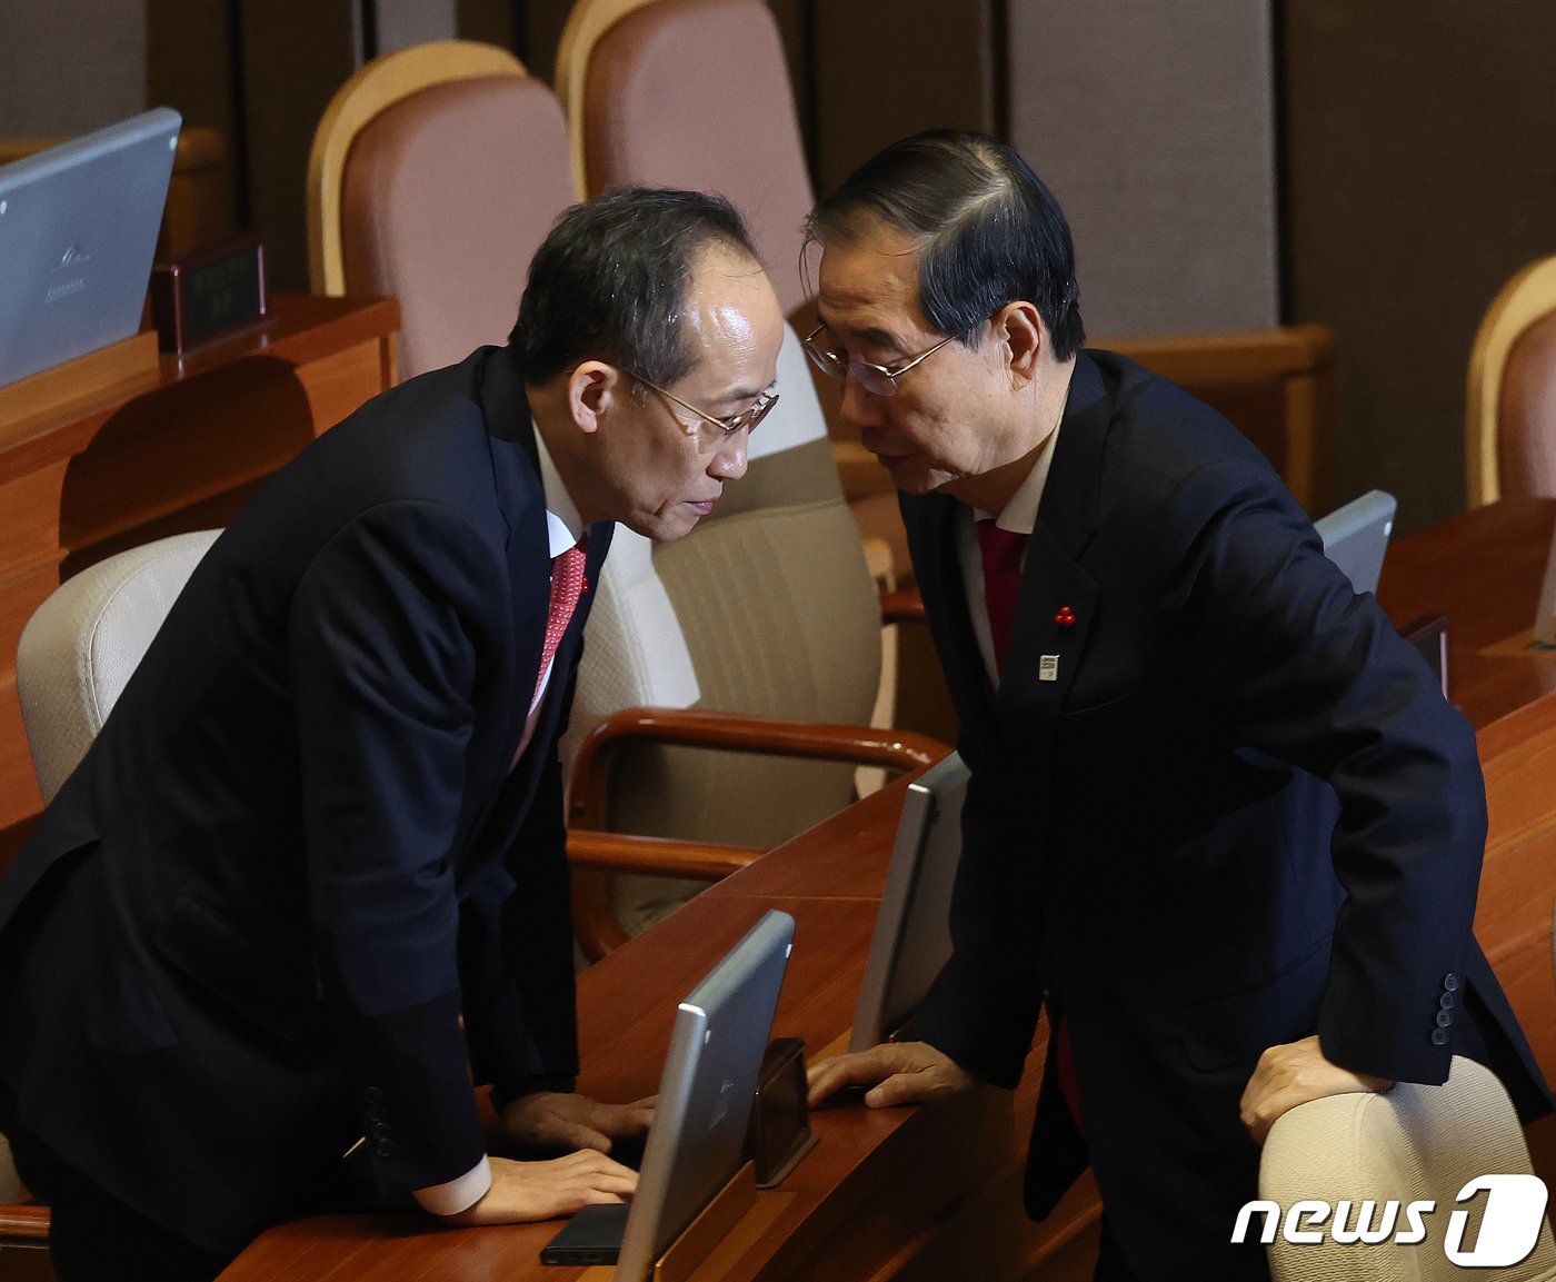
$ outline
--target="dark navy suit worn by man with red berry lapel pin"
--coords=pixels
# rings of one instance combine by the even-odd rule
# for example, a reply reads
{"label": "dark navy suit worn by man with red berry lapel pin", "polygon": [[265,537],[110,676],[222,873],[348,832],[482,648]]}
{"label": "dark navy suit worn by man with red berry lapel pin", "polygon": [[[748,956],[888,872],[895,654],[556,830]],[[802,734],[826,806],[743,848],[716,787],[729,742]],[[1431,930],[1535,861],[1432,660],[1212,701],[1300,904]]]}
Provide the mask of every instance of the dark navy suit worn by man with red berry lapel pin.
{"label": "dark navy suit worn by man with red berry lapel pin", "polygon": [[1237,1102],[1265,1047],[1315,1030],[1354,1070],[1435,1083],[1460,1050],[1545,1103],[1470,935],[1470,727],[1229,423],[1078,356],[997,691],[957,503],[902,513],[972,772],[921,1024],[1010,1086],[1044,994],[1063,1011],[1085,1142],[1049,1074],[1035,1215],[1089,1151],[1142,1277],[1259,1276],[1257,1249],[1221,1259],[1256,1196]]}

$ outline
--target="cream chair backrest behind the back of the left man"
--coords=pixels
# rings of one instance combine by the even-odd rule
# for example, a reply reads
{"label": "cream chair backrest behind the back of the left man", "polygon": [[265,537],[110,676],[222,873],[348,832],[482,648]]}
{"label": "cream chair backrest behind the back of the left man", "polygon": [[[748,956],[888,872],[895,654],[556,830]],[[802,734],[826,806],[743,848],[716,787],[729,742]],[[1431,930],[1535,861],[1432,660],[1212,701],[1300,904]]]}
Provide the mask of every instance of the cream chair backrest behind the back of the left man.
{"label": "cream chair backrest behind the back of the left man", "polygon": [[176,534],[87,566],[22,630],[16,692],[45,801],[81,764],[218,534]]}

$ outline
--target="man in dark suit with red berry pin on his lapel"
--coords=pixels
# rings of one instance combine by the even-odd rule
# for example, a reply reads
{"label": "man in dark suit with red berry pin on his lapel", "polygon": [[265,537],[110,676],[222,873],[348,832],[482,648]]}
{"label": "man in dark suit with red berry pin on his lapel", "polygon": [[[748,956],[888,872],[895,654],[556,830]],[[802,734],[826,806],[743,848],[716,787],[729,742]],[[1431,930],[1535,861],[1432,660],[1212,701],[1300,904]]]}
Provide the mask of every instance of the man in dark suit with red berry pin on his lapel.
{"label": "man in dark suit with red berry pin on his lapel", "polygon": [[1469,725],[1229,423],[1081,350],[1047,188],[927,134],[809,232],[808,349],[902,492],[971,769],[923,1041],[818,1066],[814,1098],[1015,1086],[1046,1004],[1030,1214],[1089,1161],[1099,1279],[1195,1282],[1265,1274],[1229,1238],[1296,1103],[1460,1052],[1547,1106],[1470,935]]}

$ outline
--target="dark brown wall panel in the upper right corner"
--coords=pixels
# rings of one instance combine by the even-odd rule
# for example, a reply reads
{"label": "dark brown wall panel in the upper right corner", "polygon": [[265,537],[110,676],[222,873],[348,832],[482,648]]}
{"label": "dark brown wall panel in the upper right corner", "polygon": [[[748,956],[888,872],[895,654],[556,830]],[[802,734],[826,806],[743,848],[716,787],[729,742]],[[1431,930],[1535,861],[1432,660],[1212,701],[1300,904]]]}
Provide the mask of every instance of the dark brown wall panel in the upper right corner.
{"label": "dark brown wall panel in the upper right corner", "polygon": [[1335,331],[1335,493],[1400,532],[1463,510],[1475,328],[1556,252],[1553,53],[1550,0],[1285,5],[1290,319]]}

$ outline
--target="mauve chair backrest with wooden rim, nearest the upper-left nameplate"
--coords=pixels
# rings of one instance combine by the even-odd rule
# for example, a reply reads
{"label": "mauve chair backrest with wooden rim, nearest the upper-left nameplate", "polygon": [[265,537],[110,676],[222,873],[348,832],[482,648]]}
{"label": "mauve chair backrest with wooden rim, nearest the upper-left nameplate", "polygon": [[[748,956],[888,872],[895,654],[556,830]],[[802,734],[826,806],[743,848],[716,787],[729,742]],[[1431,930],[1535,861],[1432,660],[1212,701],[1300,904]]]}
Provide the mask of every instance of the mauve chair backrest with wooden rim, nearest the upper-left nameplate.
{"label": "mauve chair backrest with wooden rim, nearest the upper-left nameplate", "polygon": [[308,162],[314,292],[400,299],[406,377],[513,328],[529,260],[573,202],[562,107],[510,53],[440,40],[377,58]]}

